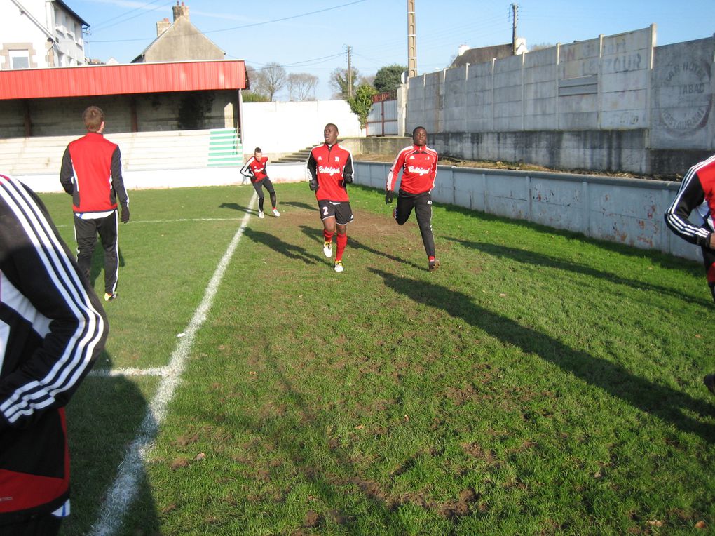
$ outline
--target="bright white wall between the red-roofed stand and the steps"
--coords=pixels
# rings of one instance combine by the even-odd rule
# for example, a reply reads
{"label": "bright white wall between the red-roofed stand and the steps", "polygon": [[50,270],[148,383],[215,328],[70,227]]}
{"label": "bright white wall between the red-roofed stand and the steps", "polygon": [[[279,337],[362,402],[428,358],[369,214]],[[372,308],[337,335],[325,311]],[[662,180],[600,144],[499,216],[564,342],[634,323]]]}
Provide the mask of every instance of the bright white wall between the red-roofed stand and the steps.
{"label": "bright white wall between the red-roofed stand and the steps", "polygon": [[260,147],[275,157],[323,142],[326,123],[335,123],[340,137],[360,136],[358,116],[344,100],[305,102],[244,102],[243,150]]}

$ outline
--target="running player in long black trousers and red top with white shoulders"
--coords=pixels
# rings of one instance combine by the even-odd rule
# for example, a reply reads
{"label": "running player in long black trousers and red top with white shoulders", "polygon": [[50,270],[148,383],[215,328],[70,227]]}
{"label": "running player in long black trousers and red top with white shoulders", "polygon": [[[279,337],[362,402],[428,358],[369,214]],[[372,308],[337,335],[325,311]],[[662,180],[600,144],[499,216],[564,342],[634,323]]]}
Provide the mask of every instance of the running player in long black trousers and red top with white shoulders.
{"label": "running player in long black trousers and red top with white shoulders", "polygon": [[432,189],[437,176],[437,151],[427,147],[427,130],[424,127],[412,131],[412,141],[413,145],[401,150],[390,168],[385,185],[385,203],[393,202],[395,182],[402,171],[398,206],[393,210],[393,218],[403,225],[415,209],[428,267],[432,272],[440,267],[439,259],[435,258],[435,238],[432,235]]}

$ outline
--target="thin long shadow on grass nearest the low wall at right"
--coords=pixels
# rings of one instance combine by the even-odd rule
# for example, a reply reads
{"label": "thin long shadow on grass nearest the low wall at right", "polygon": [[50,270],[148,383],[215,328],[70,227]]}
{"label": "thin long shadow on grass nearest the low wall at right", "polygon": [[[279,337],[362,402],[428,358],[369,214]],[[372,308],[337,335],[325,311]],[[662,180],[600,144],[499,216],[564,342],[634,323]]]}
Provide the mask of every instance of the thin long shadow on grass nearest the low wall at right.
{"label": "thin long shadow on grass nearest the low wall at right", "polygon": [[642,291],[667,294],[673,296],[674,298],[679,298],[683,301],[695,303],[700,306],[711,306],[711,301],[692,298],[691,296],[686,296],[682,293],[674,292],[672,288],[666,288],[663,286],[654,285],[652,283],[644,283],[643,281],[638,281],[636,279],[621,278],[613,275],[613,273],[603,272],[600,270],[596,270],[595,268],[584,266],[578,263],[570,263],[560,258],[551,257],[551,255],[544,255],[543,253],[536,253],[534,251],[510,248],[506,245],[496,245],[485,242],[472,242],[470,240],[461,240],[460,238],[454,238],[449,236],[445,236],[443,238],[445,238],[445,240],[451,240],[452,242],[461,244],[465,246],[465,248],[480,250],[483,253],[487,253],[488,255],[493,255],[495,257],[511,258],[512,260],[516,260],[520,263],[528,265],[548,266],[550,268],[558,268],[559,270],[566,270],[573,273],[581,273],[584,276],[604,279],[610,283],[630,286],[631,288],[638,288]]}

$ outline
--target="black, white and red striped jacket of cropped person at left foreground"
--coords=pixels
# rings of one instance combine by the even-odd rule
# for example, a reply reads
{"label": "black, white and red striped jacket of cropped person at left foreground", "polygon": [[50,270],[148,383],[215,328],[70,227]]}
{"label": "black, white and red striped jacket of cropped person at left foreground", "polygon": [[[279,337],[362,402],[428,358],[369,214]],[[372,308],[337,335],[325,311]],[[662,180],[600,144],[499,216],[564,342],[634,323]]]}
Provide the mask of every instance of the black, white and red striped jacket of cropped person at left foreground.
{"label": "black, white and red striped jacket of cropped person at left foreground", "polygon": [[107,331],[44,205],[0,175],[0,534],[69,497],[64,406]]}

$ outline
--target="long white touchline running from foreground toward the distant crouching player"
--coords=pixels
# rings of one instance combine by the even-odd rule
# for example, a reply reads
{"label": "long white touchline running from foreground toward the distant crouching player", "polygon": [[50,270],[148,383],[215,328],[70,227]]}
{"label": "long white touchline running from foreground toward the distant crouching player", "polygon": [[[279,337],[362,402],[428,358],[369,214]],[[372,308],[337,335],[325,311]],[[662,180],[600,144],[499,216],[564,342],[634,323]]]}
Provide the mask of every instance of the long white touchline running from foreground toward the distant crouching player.
{"label": "long white touchline running from foreground toward the distant crouching player", "polygon": [[[258,196],[254,193],[248,205],[248,210],[252,210],[257,198]],[[194,343],[194,338],[206,320],[226,268],[250,218],[251,213],[246,212],[241,220],[240,227],[221,258],[211,281],[209,281],[204,298],[196,311],[194,311],[194,317],[184,329],[184,336],[179,338],[176,349],[174,349],[174,353],[169,359],[169,364],[165,367],[167,376],[159,383],[157,394],[149,402],[147,414],[139,427],[137,437],[134,437],[134,441],[127,449],[127,454],[124,455],[122,463],[119,464],[117,478],[107,492],[107,497],[99,509],[99,519],[94,523],[89,534],[97,536],[113,535],[122,527],[124,515],[139,491],[138,484],[144,471],[144,461],[147,459],[149,450],[154,444],[159,424],[162,423],[164,416],[166,416],[167,406],[181,381],[181,375],[184,372],[184,366]]]}

